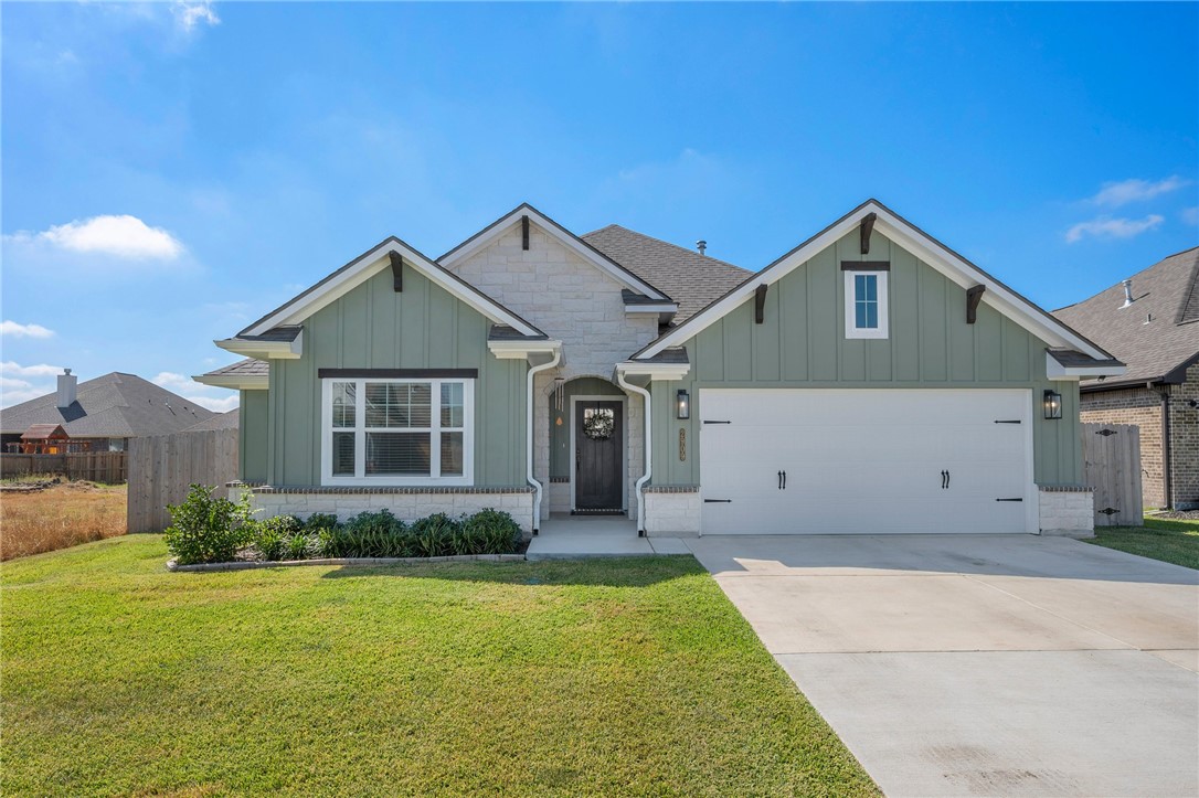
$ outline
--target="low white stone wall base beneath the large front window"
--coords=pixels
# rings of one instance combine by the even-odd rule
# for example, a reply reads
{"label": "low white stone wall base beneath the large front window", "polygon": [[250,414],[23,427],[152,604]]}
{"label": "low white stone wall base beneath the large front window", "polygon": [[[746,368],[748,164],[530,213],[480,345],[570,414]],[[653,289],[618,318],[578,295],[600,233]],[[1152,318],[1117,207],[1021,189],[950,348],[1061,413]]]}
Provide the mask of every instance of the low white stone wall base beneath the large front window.
{"label": "low white stone wall base beneath the large front window", "polygon": [[[233,488],[230,490],[234,490]],[[508,513],[525,536],[532,533],[532,489],[513,488],[257,488],[251,508],[258,518],[332,513],[345,521],[359,513],[388,509],[405,522],[434,513],[463,515],[481,509]]]}

